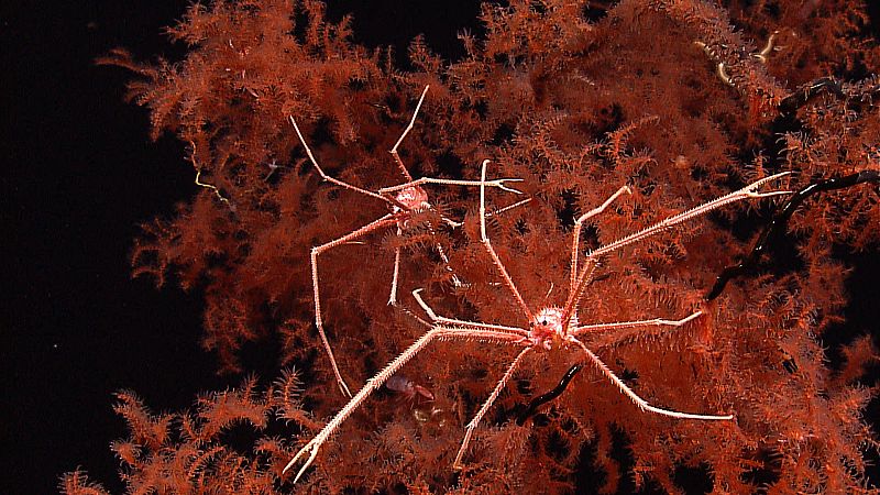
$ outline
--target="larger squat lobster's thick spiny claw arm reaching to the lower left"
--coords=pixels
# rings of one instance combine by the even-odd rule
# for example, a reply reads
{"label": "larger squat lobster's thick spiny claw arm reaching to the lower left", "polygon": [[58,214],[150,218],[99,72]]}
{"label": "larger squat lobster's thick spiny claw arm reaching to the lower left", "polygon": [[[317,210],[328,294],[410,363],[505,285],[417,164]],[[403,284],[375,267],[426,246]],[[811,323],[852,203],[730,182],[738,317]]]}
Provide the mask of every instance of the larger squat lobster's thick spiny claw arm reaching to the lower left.
{"label": "larger squat lobster's thick spiny claw arm reaching to the lower left", "polygon": [[391,378],[395,373],[397,373],[400,367],[403,367],[409,360],[411,360],[416,354],[418,354],[422,349],[425,349],[431,341],[433,340],[477,340],[484,342],[499,342],[499,343],[509,343],[509,344],[518,344],[522,345],[521,339],[518,336],[512,336],[509,333],[504,332],[495,332],[491,330],[476,330],[476,329],[461,329],[461,328],[447,328],[447,327],[435,327],[433,329],[429,330],[427,333],[421,336],[421,338],[415,341],[409,348],[406,349],[403,353],[400,353],[397,358],[394,359],[387,366],[385,366],[381,372],[378,372],[375,376],[366,381],[366,384],[361,388],[361,391],[349,400],[349,404],[345,405],[333,419],[328,422],[318,435],[315,436],[311,441],[309,441],[302,449],[297,452],[296,455],[287,463],[284,468],[283,473],[287,472],[296,462],[304,457],[306,453],[309,453],[308,459],[306,460],[302,468],[299,469],[296,477],[294,479],[294,483],[299,481],[299,477],[302,476],[302,473],[306,472],[309,465],[311,465],[312,461],[315,461],[315,457],[318,455],[318,449],[330,438],[331,435],[339,428],[340,425],[349,417],[352,413],[354,413],[358,407],[371,395],[375,392],[378,387],[381,387],[388,378]]}

